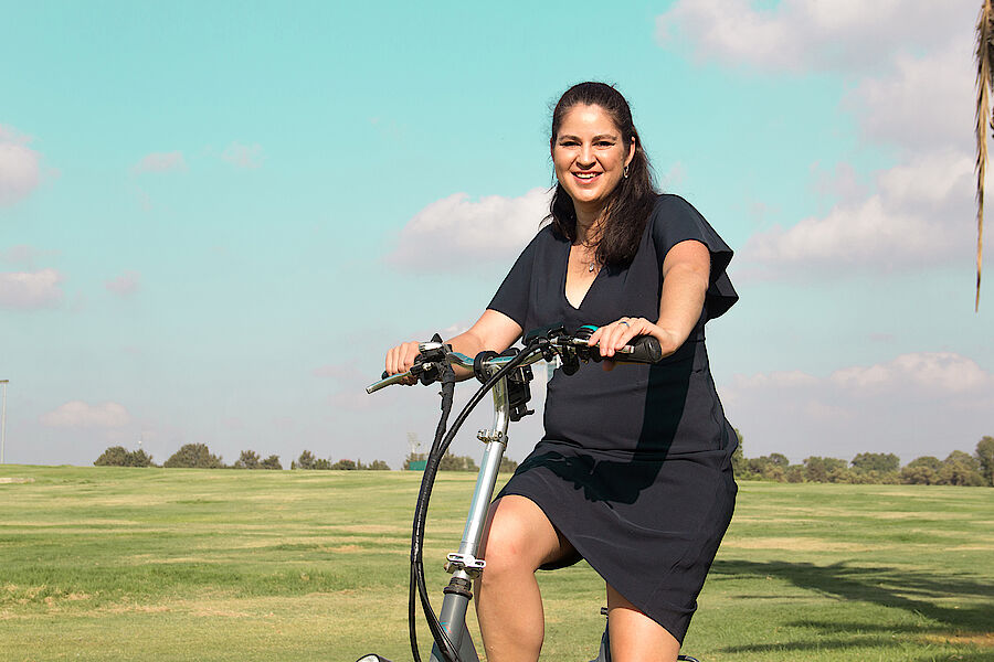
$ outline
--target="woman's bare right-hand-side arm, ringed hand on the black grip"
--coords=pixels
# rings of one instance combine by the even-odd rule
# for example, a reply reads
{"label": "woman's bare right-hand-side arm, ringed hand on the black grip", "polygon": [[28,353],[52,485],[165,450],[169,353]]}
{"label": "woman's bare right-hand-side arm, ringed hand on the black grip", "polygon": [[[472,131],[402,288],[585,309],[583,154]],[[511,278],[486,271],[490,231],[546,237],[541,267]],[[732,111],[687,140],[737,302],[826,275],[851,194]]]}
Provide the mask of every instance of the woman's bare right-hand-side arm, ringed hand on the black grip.
{"label": "woman's bare right-hand-side arm, ringed hand on the black grip", "polygon": [[[590,344],[600,343],[601,355],[610,357],[636,335],[653,335],[659,341],[664,356],[673,354],[687,341],[700,319],[710,274],[711,255],[707,246],[695,239],[676,244],[663,260],[663,293],[656,322],[622,318],[598,329],[590,337]],[[605,367],[610,370],[610,365]]]}

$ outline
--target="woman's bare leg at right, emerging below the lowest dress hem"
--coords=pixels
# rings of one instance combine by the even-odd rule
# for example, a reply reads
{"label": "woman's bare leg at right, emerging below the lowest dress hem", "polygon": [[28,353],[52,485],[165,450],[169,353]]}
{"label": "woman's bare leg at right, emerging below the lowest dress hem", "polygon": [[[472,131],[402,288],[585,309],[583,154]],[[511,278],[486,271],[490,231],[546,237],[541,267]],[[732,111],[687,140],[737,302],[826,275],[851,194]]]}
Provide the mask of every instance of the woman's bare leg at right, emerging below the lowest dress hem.
{"label": "woman's bare leg at right, emerging below the lowest dress hem", "polygon": [[607,585],[612,662],[675,662],[680,642]]}

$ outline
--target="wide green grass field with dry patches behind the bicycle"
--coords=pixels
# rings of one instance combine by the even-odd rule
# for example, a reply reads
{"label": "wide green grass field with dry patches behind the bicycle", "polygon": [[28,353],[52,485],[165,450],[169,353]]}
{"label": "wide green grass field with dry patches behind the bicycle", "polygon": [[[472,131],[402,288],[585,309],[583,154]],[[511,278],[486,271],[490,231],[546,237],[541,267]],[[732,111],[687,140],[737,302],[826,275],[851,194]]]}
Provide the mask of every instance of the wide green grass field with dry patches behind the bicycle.
{"label": "wide green grass field with dry patches behind the bicycle", "polygon": [[[410,660],[419,480],[0,466],[0,660]],[[438,589],[473,480],[443,473],[435,490],[425,558]],[[596,575],[541,583],[543,659],[590,660]],[[685,650],[994,660],[994,489],[742,483]]]}

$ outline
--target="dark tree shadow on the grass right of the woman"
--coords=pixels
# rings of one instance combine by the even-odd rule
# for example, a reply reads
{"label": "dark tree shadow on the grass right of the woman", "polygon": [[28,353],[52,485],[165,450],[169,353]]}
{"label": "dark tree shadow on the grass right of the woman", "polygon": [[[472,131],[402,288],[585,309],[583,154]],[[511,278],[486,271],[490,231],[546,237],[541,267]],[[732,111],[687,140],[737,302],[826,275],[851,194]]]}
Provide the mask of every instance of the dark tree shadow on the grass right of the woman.
{"label": "dark tree shadow on the grass right of the woman", "polygon": [[[847,564],[814,565],[810,563],[755,563],[748,560],[717,560],[711,566],[715,577],[774,577],[797,588],[813,590],[836,600],[870,602],[900,609],[931,621],[914,623],[866,623],[838,620],[796,620],[790,626],[817,630],[823,637],[817,643],[778,643],[733,647],[728,652],[808,649],[843,649],[892,644],[893,636],[981,634],[990,638],[994,626],[994,597],[990,584],[956,576],[935,576],[928,573],[886,566],[849,566]],[[763,599],[771,596],[741,596]],[[790,598],[787,598],[790,599]],[[940,602],[959,600],[959,606]],[[833,634],[848,637],[833,638]],[[938,638],[935,638],[938,639]],[[933,639],[934,640],[934,639]],[[987,644],[980,644],[986,648]],[[921,658],[921,661],[947,658]],[[991,660],[991,652],[977,656],[965,653],[956,660]]]}

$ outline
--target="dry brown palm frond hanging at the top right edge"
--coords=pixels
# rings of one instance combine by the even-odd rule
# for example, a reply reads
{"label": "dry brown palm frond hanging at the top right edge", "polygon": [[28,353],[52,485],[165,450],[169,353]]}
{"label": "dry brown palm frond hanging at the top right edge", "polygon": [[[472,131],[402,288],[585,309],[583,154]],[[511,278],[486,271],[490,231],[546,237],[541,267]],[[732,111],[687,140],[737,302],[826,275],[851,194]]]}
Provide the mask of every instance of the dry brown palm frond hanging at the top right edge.
{"label": "dry brown palm frond hanging at the top right edge", "polygon": [[980,310],[984,252],[984,177],[987,170],[987,126],[994,131],[990,92],[994,88],[994,7],[983,0],[976,19],[976,303]]}

